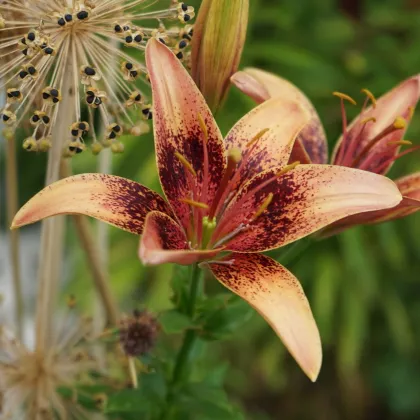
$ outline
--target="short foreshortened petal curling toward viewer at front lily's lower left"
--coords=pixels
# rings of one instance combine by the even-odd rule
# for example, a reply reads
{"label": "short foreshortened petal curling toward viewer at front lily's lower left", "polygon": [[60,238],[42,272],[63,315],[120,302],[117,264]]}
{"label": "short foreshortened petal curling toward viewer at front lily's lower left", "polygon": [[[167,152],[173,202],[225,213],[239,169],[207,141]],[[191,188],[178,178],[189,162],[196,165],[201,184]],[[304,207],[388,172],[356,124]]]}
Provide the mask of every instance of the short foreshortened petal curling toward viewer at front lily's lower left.
{"label": "short foreshortened petal curling toward viewer at front lily's lower left", "polygon": [[171,217],[152,211],[146,217],[140,240],[139,257],[145,265],[177,263],[194,264],[213,258],[221,249],[211,251],[192,250],[181,226]]}

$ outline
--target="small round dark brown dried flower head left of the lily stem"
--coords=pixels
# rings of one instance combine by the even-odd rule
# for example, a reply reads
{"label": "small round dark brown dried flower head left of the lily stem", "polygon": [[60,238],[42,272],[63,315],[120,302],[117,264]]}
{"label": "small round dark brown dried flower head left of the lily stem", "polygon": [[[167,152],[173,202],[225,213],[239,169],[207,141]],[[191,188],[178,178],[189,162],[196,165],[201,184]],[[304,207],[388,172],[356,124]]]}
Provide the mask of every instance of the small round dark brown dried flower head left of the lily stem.
{"label": "small round dark brown dried flower head left of the lily stem", "polygon": [[146,311],[134,311],[133,316],[122,321],[120,343],[127,356],[136,357],[149,353],[155,345],[159,324]]}

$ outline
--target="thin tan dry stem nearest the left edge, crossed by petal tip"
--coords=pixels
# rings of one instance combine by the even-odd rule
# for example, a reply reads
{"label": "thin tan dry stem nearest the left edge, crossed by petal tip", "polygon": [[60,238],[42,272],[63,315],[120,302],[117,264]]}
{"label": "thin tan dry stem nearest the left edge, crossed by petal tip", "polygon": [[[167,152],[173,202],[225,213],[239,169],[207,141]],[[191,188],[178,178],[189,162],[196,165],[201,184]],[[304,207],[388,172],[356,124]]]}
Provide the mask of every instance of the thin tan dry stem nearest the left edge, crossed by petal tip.
{"label": "thin tan dry stem nearest the left edge, crossed by petal tip", "polygon": [[[16,165],[16,141],[14,132],[5,132],[6,139],[6,180],[7,180],[7,218],[9,225],[18,210],[18,174]],[[22,339],[23,329],[23,295],[20,273],[19,230],[13,229],[10,235],[10,258],[15,298],[16,333]]]}

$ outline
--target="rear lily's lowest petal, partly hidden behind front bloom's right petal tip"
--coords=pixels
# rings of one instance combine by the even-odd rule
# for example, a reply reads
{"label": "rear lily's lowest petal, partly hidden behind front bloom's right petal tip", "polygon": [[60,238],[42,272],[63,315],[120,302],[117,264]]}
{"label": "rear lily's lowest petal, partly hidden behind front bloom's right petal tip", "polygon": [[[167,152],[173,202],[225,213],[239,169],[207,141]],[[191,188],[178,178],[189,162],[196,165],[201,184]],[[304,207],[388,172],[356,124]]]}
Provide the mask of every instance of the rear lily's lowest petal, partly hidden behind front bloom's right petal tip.
{"label": "rear lily's lowest petal, partly hidden behind front bloom's right petal tip", "polygon": [[325,228],[320,236],[326,238],[356,225],[387,222],[409,216],[410,214],[419,211],[420,172],[400,178],[395,181],[395,184],[403,196],[403,199],[397,206],[386,210],[354,214],[353,216],[338,220]]}

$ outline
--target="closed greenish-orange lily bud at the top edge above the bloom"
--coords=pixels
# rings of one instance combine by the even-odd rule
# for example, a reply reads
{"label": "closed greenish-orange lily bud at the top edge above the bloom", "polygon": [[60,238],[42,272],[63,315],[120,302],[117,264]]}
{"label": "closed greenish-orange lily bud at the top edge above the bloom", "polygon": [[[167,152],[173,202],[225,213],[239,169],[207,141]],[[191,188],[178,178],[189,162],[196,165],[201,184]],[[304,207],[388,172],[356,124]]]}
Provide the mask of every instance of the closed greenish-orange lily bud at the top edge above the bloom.
{"label": "closed greenish-orange lily bud at the top edge above the bloom", "polygon": [[203,0],[194,25],[192,76],[215,112],[223,102],[245,44],[249,0]]}

